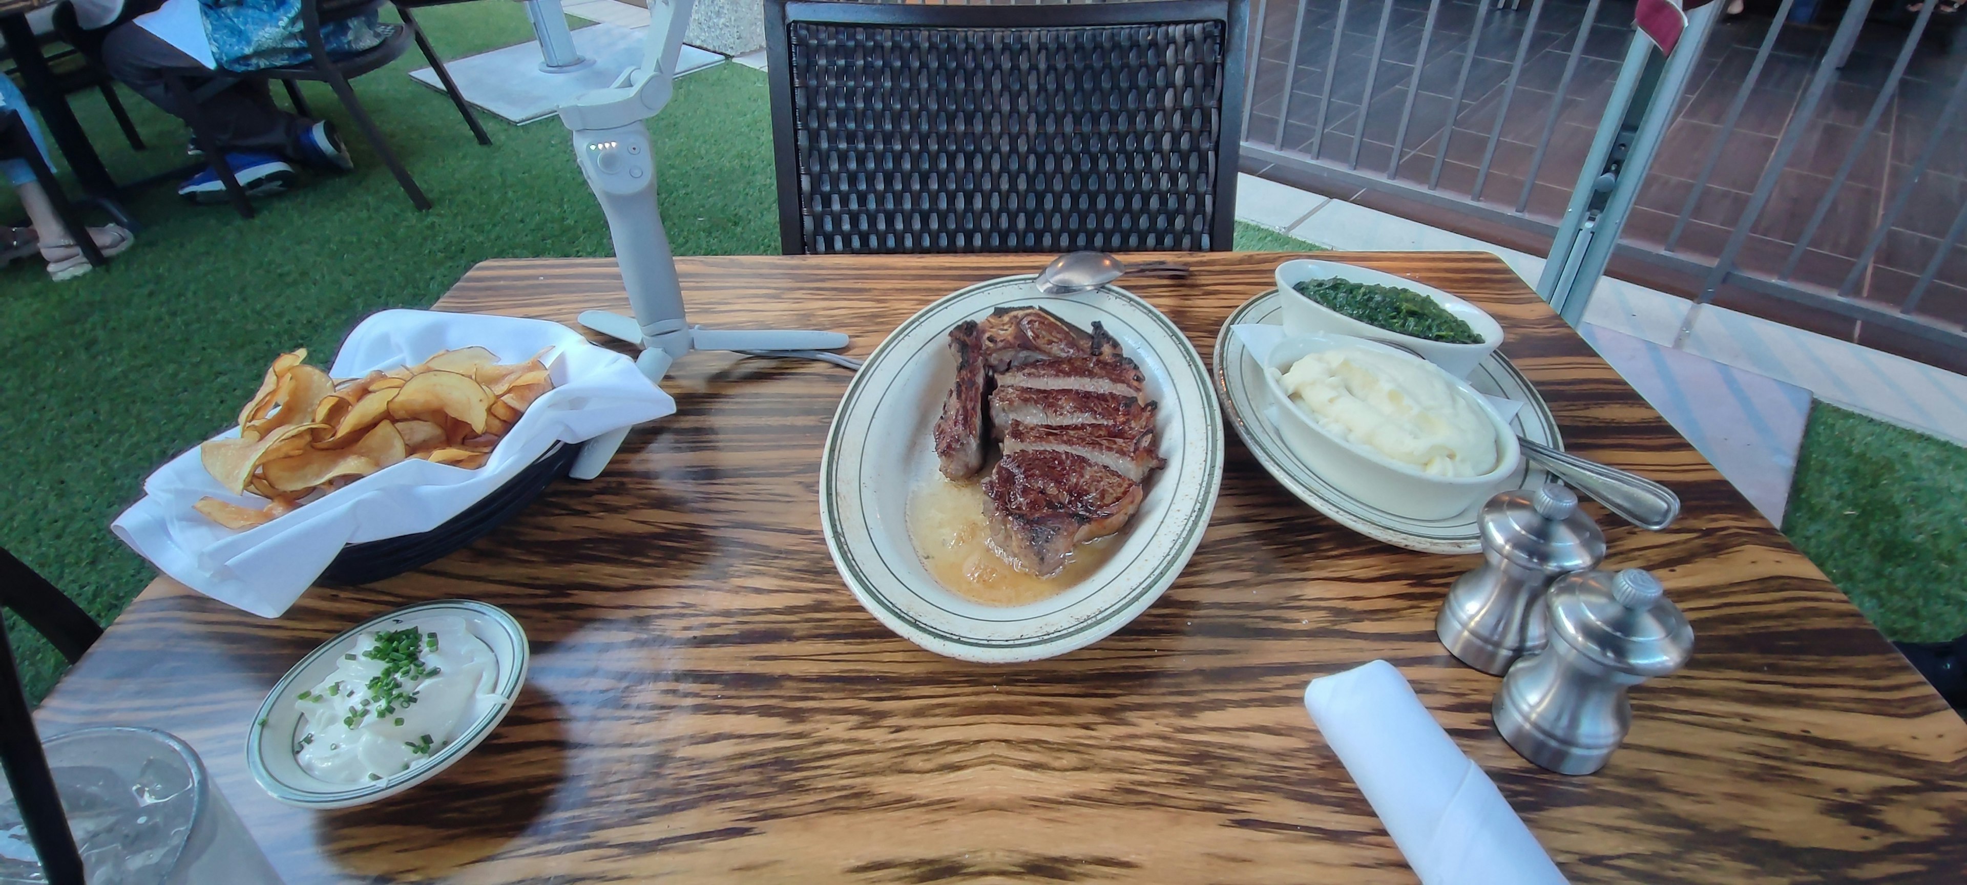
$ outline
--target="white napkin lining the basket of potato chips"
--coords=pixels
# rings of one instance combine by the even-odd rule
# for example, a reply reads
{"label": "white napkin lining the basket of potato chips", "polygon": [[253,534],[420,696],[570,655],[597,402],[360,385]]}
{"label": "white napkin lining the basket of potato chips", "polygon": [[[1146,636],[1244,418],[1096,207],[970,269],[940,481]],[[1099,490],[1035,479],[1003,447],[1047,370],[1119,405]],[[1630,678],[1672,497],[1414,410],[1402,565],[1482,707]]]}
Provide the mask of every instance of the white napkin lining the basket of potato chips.
{"label": "white napkin lining the basket of potato chips", "polygon": [[[553,442],[582,442],[677,411],[677,401],[649,384],[627,356],[588,344],[559,323],[517,317],[382,311],[348,332],[328,374],[360,378],[474,344],[500,362],[523,362],[553,348],[547,356],[553,389],[527,407],[482,468],[405,460],[266,525],[232,531],[191,505],[205,496],[252,507],[266,500],[220,488],[193,446],[149,474],[144,500],[110,529],[185,586],[256,616],[279,618],[342,545],[431,531],[496,492]],[[222,437],[236,435],[234,427]]]}

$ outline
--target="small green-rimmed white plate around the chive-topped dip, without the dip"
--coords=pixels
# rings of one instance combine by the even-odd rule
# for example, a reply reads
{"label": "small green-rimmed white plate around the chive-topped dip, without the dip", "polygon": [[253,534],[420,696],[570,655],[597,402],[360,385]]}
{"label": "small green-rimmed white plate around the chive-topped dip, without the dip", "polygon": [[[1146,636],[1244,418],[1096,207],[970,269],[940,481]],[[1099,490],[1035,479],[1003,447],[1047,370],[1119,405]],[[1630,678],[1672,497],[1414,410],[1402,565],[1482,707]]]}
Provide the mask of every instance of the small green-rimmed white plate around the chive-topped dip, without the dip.
{"label": "small green-rimmed white plate around the chive-topped dip, without the dip", "polygon": [[[433,616],[452,616],[464,620],[464,629],[492,649],[492,657],[498,663],[492,692],[498,700],[482,704],[474,710],[476,718],[450,739],[450,745],[431,753],[423,765],[415,765],[409,771],[364,785],[323,781],[309,775],[293,753],[293,747],[301,738],[301,726],[305,726],[305,718],[295,706],[295,694],[321,684],[327,675],[334,673],[342,655],[356,647],[356,639],[362,633],[374,629],[401,629],[405,623],[417,623],[419,620]],[[498,728],[500,720],[506,718],[506,712],[511,710],[513,698],[519,696],[519,686],[525,684],[525,669],[529,663],[531,651],[525,643],[525,629],[521,629],[519,621],[498,606],[472,600],[439,600],[399,608],[328,639],[319,649],[303,657],[301,663],[293,665],[293,669],[287,671],[277,684],[273,684],[266,702],[260,704],[260,714],[254,716],[254,726],[248,730],[246,767],[268,795],[301,808],[348,808],[354,804],[389,798],[437,777],[441,771],[462,759],[464,753],[478,747],[478,743],[482,743],[486,736]]]}

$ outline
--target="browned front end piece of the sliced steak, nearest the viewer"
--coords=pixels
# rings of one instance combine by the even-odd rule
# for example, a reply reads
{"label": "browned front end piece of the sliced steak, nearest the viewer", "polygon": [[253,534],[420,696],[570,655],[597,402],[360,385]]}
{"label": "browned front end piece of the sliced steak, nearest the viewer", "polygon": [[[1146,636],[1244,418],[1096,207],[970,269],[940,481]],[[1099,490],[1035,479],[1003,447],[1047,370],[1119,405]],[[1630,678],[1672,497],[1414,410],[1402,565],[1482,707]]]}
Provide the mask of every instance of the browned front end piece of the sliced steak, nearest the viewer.
{"label": "browned front end piece of the sliced steak, nearest the viewer", "polygon": [[1005,452],[984,478],[991,545],[1011,566],[1046,576],[1084,541],[1111,535],[1141,507],[1141,484],[1080,454]]}

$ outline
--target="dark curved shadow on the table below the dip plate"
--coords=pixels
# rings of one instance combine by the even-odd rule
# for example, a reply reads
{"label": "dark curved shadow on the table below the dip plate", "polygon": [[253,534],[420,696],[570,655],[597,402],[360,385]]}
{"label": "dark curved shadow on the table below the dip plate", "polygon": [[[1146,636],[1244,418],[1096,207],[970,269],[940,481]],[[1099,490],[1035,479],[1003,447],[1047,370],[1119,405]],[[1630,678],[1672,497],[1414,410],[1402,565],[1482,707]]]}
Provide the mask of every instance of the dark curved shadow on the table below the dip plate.
{"label": "dark curved shadow on the table below the dip plate", "polygon": [[565,712],[529,686],[456,765],[399,796],[319,814],[315,840],[330,863],[362,879],[443,879],[531,830],[565,781]]}

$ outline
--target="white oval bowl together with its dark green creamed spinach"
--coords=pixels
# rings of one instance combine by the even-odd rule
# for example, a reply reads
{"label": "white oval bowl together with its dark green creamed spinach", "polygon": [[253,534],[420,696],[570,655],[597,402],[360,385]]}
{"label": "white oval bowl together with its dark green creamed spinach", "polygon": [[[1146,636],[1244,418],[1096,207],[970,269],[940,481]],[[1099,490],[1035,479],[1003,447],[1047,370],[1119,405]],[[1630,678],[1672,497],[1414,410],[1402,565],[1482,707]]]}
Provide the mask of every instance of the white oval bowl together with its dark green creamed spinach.
{"label": "white oval bowl together with its dark green creamed spinach", "polygon": [[[1277,266],[1277,291],[1284,297],[1284,330],[1290,334],[1324,332],[1393,342],[1456,378],[1467,378],[1503,344],[1503,326],[1483,309],[1387,271],[1298,258]],[[1328,301],[1357,317],[1328,307]]]}

